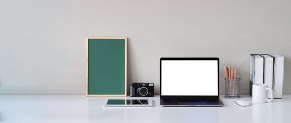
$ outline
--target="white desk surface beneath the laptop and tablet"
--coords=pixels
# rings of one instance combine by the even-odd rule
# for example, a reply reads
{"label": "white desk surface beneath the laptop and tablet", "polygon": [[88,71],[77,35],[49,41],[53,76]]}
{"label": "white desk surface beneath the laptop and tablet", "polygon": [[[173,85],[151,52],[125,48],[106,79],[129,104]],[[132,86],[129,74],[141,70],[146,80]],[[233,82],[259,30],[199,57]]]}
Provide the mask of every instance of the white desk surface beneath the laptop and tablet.
{"label": "white desk surface beneath the laptop and tablet", "polygon": [[220,95],[224,107],[160,107],[160,97],[153,107],[102,107],[104,98],[84,95],[1,95],[0,122],[291,122],[291,95],[272,103],[248,107]]}

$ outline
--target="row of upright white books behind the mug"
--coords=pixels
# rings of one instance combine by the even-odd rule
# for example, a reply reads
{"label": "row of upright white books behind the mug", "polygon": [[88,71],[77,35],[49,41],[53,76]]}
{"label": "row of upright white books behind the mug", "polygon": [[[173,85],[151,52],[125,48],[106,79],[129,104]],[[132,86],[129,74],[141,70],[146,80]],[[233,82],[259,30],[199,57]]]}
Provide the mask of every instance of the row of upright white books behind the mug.
{"label": "row of upright white books behind the mug", "polygon": [[[267,84],[274,90],[274,98],[282,98],[284,56],[278,54],[250,55],[250,95],[253,84]],[[271,94],[268,95],[271,97]]]}

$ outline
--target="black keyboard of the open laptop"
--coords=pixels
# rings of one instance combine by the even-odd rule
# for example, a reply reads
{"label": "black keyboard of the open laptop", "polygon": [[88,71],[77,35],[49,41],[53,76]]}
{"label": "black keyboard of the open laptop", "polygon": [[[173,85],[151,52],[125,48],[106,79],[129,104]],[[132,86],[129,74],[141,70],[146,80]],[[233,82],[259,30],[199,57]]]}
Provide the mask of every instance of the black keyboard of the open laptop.
{"label": "black keyboard of the open laptop", "polygon": [[163,100],[169,102],[199,102],[199,101],[218,102],[217,98],[168,98]]}

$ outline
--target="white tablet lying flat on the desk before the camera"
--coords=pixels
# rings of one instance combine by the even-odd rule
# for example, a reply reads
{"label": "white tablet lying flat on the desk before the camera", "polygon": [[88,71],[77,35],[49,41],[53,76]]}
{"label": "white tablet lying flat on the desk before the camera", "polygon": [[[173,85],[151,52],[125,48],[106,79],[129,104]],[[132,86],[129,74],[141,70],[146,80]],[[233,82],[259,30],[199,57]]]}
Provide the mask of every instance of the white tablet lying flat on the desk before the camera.
{"label": "white tablet lying flat on the desk before the camera", "polygon": [[104,107],[151,107],[152,99],[105,99]]}

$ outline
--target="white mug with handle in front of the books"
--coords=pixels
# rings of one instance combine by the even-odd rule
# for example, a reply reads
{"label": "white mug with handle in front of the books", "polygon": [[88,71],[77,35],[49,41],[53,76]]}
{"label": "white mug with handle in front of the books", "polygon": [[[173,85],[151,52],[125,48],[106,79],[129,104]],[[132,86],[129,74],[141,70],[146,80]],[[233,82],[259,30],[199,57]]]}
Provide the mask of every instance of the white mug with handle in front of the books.
{"label": "white mug with handle in front of the books", "polygon": [[[270,90],[271,99],[268,99],[267,90]],[[267,103],[274,98],[274,92],[267,84],[253,84],[253,103]]]}

